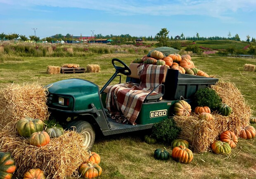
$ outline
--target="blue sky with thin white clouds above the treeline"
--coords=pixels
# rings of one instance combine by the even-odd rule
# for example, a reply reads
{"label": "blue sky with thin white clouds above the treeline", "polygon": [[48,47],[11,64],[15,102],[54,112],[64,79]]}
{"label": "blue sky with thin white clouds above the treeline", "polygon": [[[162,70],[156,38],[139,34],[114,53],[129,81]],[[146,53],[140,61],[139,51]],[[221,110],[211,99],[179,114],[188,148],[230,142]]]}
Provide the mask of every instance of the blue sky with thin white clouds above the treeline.
{"label": "blue sky with thin white clouds above the treeline", "polygon": [[[0,33],[256,38],[256,0],[0,0]],[[251,39],[250,38],[250,39]]]}

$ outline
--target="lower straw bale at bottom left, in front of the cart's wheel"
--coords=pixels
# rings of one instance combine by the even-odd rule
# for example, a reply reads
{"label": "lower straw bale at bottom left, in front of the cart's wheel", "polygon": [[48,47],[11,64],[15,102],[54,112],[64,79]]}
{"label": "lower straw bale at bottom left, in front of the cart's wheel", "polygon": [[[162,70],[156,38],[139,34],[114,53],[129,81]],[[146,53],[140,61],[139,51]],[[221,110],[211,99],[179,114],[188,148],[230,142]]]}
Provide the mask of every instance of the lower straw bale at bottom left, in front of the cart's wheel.
{"label": "lower straw bale at bottom left, in front of the cart's wheel", "polygon": [[17,178],[31,168],[43,170],[47,179],[78,178],[78,167],[89,157],[83,136],[75,131],[65,131],[43,147],[31,146],[28,139],[15,132],[0,132],[0,138],[0,151],[11,152],[15,160]]}

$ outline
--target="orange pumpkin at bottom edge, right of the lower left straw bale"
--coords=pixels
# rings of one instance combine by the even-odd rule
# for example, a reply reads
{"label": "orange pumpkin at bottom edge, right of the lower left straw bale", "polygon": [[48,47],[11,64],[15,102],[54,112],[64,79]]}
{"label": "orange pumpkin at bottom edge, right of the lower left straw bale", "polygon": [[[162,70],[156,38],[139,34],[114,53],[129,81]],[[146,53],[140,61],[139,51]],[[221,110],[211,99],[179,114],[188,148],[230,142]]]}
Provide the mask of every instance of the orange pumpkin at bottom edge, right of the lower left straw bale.
{"label": "orange pumpkin at bottom edge, right of the lower left straw bale", "polygon": [[102,174],[102,168],[97,163],[88,161],[88,163],[83,163],[79,166],[78,172],[81,177],[92,179],[95,177],[100,177]]}

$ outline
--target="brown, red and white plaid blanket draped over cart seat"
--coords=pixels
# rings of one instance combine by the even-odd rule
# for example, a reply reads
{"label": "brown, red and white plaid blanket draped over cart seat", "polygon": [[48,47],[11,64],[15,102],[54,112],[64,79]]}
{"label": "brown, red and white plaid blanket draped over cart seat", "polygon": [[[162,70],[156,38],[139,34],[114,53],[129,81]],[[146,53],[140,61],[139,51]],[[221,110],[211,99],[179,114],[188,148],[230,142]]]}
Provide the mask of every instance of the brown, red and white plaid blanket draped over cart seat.
{"label": "brown, red and white plaid blanket draped over cart seat", "polygon": [[[138,68],[140,84],[131,82],[112,86],[107,94],[106,104],[110,113],[121,111],[128,121],[135,125],[135,120],[147,94],[164,79],[165,66],[144,64]],[[161,92],[161,86],[152,95]]]}

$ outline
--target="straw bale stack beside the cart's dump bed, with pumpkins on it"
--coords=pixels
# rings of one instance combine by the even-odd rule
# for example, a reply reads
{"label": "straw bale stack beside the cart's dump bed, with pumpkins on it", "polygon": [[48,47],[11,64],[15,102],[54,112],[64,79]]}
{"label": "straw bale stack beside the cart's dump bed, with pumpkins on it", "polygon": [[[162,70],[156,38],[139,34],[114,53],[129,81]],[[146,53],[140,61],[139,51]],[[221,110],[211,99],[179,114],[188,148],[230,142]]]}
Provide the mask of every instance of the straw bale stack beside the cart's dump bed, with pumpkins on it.
{"label": "straw bale stack beside the cart's dump bed, with pumpkins on it", "polygon": [[220,95],[223,103],[232,108],[229,116],[212,113],[214,119],[211,121],[199,120],[195,113],[188,117],[174,116],[177,126],[182,129],[179,137],[189,141],[195,152],[208,151],[213,141],[225,130],[235,132],[238,136],[241,124],[249,123],[250,120],[251,108],[233,83],[218,82],[211,88]]}

